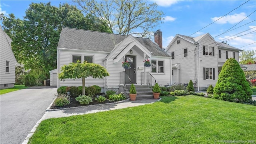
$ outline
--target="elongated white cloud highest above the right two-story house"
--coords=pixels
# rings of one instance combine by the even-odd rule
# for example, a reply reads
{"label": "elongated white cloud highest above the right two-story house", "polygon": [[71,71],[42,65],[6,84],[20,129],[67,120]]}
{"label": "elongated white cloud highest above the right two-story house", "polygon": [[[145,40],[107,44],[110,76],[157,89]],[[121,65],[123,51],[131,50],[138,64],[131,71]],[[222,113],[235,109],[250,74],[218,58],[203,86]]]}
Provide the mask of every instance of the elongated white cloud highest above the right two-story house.
{"label": "elongated white cloud highest above the right two-story house", "polygon": [[[244,12],[241,12],[240,14],[233,14],[233,15],[227,15],[224,16],[223,18],[220,17],[214,17],[211,18],[212,21],[214,22],[215,20],[217,24],[226,24],[226,23],[230,23],[230,24],[235,24],[240,22],[241,20],[243,20],[244,18],[246,18],[246,14]],[[221,18],[220,20],[218,20],[219,18]],[[248,19],[248,18],[246,18]]]}

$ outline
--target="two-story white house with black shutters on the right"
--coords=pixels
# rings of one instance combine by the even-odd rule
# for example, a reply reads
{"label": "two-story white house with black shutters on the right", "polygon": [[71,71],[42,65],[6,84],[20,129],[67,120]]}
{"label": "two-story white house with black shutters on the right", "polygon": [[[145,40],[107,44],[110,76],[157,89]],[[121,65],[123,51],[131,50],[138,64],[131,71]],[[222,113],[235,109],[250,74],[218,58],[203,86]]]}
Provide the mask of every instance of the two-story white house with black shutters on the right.
{"label": "two-story white house with black shutters on the right", "polygon": [[216,42],[209,33],[198,37],[176,34],[166,48],[172,57],[172,83],[188,83],[192,80],[196,90],[204,90],[210,84],[215,86],[223,64],[228,58],[235,58],[239,62],[241,51]]}

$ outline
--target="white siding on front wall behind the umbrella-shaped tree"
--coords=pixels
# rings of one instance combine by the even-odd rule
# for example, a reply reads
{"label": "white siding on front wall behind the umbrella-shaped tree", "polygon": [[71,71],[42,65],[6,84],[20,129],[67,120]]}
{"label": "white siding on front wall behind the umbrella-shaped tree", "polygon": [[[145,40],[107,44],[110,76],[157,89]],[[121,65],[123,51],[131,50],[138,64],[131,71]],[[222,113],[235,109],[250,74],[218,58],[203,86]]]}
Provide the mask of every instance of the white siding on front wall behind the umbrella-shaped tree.
{"label": "white siding on front wall behind the umbrella-shaped tree", "polygon": [[[82,57],[84,55],[86,56],[93,56],[93,62],[96,64],[100,64],[103,66],[103,61],[106,57],[106,54],[103,53],[97,53],[97,52],[72,52],[72,51],[66,51],[66,50],[60,50],[59,54],[59,65],[58,69],[60,70],[61,66],[64,64],[69,64],[72,62],[72,55],[81,55]],[[83,58],[82,58],[83,60]],[[59,71],[60,72],[60,71]],[[92,86],[92,85],[98,85],[102,88],[104,80],[103,79],[94,79],[92,77],[85,78],[85,86]],[[66,79],[65,81],[60,81],[60,86],[82,86],[82,79]]]}

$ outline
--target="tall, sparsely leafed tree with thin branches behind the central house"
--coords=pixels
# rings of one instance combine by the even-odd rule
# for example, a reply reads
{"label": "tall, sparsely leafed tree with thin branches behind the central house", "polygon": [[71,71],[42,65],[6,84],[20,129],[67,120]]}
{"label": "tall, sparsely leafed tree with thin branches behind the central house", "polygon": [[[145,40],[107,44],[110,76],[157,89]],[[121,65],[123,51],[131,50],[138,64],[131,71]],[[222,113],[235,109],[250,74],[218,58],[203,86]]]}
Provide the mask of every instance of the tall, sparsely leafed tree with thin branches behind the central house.
{"label": "tall, sparsely leafed tree with thin branches behind the central house", "polygon": [[[144,0],[74,0],[86,14],[106,20],[112,32],[146,37],[162,22],[163,12],[157,4]],[[134,30],[141,29],[141,33]]]}

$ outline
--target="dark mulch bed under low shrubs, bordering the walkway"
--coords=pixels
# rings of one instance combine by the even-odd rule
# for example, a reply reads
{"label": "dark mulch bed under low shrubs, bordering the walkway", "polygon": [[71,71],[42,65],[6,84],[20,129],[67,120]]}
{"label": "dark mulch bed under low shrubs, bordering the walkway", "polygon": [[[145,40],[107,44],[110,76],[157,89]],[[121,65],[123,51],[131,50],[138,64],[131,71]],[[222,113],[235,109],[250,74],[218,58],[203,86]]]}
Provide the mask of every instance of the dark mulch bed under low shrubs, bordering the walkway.
{"label": "dark mulch bed under low shrubs, bordering the walkway", "polygon": [[[102,93],[104,94],[104,93]],[[101,94],[96,94],[96,95],[101,95]],[[95,95],[95,96],[96,96]],[[72,108],[72,107],[78,107],[78,106],[89,106],[89,105],[95,105],[95,104],[107,104],[107,103],[113,103],[112,101],[109,101],[108,99],[105,102],[97,102],[94,97],[92,99],[92,102],[90,102],[89,104],[80,104],[78,101],[75,100],[76,97],[74,96],[70,96],[70,104],[66,105],[66,106],[55,106],[54,104],[52,104],[52,106],[50,107],[50,109],[59,109],[59,108]]]}

